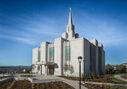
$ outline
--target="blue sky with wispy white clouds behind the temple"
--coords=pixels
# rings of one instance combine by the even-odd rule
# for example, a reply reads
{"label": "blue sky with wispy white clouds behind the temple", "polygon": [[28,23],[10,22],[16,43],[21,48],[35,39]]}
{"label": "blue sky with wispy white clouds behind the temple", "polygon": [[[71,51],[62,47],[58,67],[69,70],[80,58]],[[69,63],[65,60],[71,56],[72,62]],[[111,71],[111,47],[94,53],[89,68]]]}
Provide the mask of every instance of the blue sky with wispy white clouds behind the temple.
{"label": "blue sky with wispy white clouds behind the temple", "polygon": [[31,65],[32,49],[66,31],[104,45],[106,64],[127,62],[126,0],[0,0],[0,66]]}

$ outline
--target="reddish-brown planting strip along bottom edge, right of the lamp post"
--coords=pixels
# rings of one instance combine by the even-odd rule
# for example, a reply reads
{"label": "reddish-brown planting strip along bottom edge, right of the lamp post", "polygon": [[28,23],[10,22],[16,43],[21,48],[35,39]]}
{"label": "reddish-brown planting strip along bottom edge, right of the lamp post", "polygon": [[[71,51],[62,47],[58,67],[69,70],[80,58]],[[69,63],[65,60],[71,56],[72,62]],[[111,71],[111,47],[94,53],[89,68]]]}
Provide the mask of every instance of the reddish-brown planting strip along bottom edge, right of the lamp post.
{"label": "reddish-brown planting strip along bottom edge, right of the lamp post", "polygon": [[95,84],[83,84],[88,89],[127,89],[125,86],[110,86],[110,85],[95,85]]}

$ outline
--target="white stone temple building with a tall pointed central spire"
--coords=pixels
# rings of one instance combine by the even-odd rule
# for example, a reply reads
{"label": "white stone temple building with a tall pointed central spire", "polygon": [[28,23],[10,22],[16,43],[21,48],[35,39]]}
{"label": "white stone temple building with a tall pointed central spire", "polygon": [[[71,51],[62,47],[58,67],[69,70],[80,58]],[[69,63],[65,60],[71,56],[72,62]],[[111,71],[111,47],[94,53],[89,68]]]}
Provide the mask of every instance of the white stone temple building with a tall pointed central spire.
{"label": "white stone temple building with a tall pointed central spire", "polygon": [[32,72],[40,75],[79,75],[78,56],[82,56],[81,72],[104,74],[105,51],[96,39],[87,40],[75,33],[70,8],[69,22],[62,37],[53,43],[42,42],[33,48]]}

